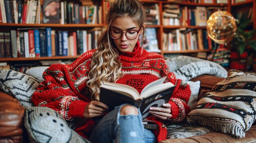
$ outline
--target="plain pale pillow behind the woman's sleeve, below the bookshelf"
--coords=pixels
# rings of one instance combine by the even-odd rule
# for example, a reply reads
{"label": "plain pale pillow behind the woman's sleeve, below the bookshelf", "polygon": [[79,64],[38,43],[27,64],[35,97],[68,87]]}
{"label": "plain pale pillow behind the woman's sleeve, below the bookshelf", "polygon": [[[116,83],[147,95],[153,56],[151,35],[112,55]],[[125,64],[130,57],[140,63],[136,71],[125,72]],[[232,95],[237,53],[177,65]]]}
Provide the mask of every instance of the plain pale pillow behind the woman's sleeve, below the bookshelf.
{"label": "plain pale pillow behind the woman's sleeve, below the bookshelf", "polygon": [[33,68],[29,68],[26,71],[26,74],[36,78],[39,82],[42,82],[42,81],[45,81],[45,79],[43,79],[42,76],[43,76],[43,72],[47,68],[49,68],[49,66],[36,66],[36,67],[33,67]]}

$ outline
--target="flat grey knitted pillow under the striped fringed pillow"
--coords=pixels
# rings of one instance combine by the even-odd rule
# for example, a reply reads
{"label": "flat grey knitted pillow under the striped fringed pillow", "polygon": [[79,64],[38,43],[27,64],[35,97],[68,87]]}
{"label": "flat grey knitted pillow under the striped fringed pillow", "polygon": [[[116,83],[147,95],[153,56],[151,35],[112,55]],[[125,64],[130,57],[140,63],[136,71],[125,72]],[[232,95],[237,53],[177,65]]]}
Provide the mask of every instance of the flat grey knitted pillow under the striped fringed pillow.
{"label": "flat grey knitted pillow under the striped fringed pillow", "polygon": [[167,126],[167,139],[189,138],[213,132],[209,127],[200,125],[187,126],[186,124],[176,123]]}

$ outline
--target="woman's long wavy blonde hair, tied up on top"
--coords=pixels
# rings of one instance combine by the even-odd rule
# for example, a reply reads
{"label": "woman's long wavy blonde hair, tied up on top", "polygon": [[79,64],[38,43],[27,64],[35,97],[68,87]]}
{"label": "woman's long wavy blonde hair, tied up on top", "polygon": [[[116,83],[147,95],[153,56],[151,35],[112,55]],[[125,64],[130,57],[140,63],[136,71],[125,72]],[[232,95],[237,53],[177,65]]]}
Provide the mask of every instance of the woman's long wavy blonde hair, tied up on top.
{"label": "woman's long wavy blonde hair, tied up on top", "polygon": [[[114,41],[110,38],[111,23],[117,17],[129,16],[143,30],[146,13],[144,6],[139,0],[105,0],[109,3],[106,15],[107,28],[97,40],[97,51],[92,55],[92,63],[87,86],[90,88],[91,99],[99,101],[100,86],[105,82],[116,82],[124,74],[121,72],[119,51]],[[142,46],[143,47],[143,46]]]}

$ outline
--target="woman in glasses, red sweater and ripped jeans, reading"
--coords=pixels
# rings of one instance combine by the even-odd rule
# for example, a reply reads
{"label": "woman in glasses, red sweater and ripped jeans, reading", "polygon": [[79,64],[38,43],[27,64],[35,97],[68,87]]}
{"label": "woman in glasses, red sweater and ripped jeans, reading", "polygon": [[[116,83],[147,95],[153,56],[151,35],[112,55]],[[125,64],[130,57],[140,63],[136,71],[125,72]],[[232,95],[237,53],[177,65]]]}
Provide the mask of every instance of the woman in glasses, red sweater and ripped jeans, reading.
{"label": "woman in glasses, red sweater and ripped jeans, reading", "polygon": [[[75,131],[95,143],[154,143],[166,139],[163,120],[182,121],[190,111],[187,102],[190,89],[175,79],[164,58],[148,53],[139,45],[145,31],[145,10],[139,0],[110,0],[106,15],[107,29],[97,41],[97,50],[84,53],[70,65],[54,64],[32,97],[36,106],[58,111],[66,120],[81,119]],[[144,129],[140,111],[124,104],[106,113],[108,107],[99,101],[104,82],[127,84],[139,92],[150,82],[167,76],[165,82],[176,85],[169,103],[152,107],[159,129]],[[82,121],[85,119],[84,121]]]}

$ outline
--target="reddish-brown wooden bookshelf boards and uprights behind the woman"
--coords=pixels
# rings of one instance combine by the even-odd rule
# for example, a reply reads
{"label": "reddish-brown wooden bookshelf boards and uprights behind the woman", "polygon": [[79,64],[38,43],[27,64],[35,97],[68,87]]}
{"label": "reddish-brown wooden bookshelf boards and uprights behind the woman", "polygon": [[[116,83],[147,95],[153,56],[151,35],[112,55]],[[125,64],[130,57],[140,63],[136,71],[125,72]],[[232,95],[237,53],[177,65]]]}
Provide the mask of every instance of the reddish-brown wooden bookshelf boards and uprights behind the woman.
{"label": "reddish-brown wooden bookshelf boards and uprights behind the woman", "polygon": [[[17,0],[18,1],[18,0]],[[22,2],[25,2],[27,0],[22,0]],[[41,0],[42,1],[42,0]],[[64,0],[65,1],[65,0]],[[73,2],[72,0],[66,0],[67,2]],[[83,0],[74,0],[74,3],[81,3],[81,1]],[[85,0],[84,0],[85,1]],[[183,29],[184,31],[188,30],[188,29],[193,29],[194,31],[206,31],[206,26],[197,26],[197,25],[181,25],[180,24],[180,20],[179,20],[179,25],[166,25],[164,24],[164,20],[163,20],[163,15],[164,15],[164,6],[167,4],[171,4],[171,5],[177,5],[179,7],[179,9],[184,9],[186,7],[186,9],[192,9],[192,11],[194,9],[196,9],[197,7],[205,7],[205,8],[209,8],[209,7],[226,7],[227,10],[229,12],[233,11],[233,9],[237,9],[240,8],[241,5],[245,5],[245,6],[251,6],[254,9],[254,13],[256,13],[256,2],[255,0],[250,0],[250,1],[246,1],[246,2],[241,2],[241,3],[235,3],[235,4],[231,4],[231,0],[229,0],[228,4],[218,4],[216,2],[216,0],[213,0],[213,3],[195,3],[195,2],[190,2],[193,0],[180,0],[180,2],[173,2],[173,1],[164,1],[164,0],[141,0],[143,1],[144,6],[146,6],[147,8],[150,8],[152,6],[154,6],[155,4],[158,5],[158,23],[157,24],[147,24],[146,28],[155,28],[156,29],[156,35],[157,35],[157,45],[159,47],[160,52],[158,52],[159,54],[161,54],[162,56],[164,56],[165,54],[185,54],[185,55],[192,55],[194,53],[199,53],[199,52],[210,52],[211,48],[206,48],[203,47],[203,49],[187,49],[184,48],[182,50],[176,50],[176,51],[171,51],[171,50],[164,50],[164,35],[163,33],[169,33],[171,31],[175,31],[177,29],[181,30]],[[200,0],[197,0],[200,1]],[[62,2],[62,0],[60,0],[60,2]],[[90,31],[94,28],[102,28],[104,26],[106,26],[106,17],[105,17],[105,13],[107,11],[107,6],[106,3],[104,2],[104,0],[92,0],[92,2],[94,4],[97,4],[99,6],[102,7],[102,11],[101,11],[101,17],[99,19],[101,19],[101,23],[100,24],[69,24],[68,22],[65,24],[46,24],[46,23],[40,23],[40,24],[25,24],[25,23],[0,23],[0,33],[1,32],[10,32],[11,30],[17,30],[17,28],[39,28],[39,27],[49,27],[54,31],[68,31],[68,33],[72,33],[76,30],[86,30],[86,31]],[[254,29],[256,29],[256,14],[253,15],[254,17],[254,22],[253,22],[253,27]],[[196,32],[195,32],[196,33]],[[193,33],[192,33],[193,34]],[[196,39],[196,38],[195,38]],[[195,40],[194,39],[194,40]],[[79,57],[78,55],[74,55],[74,56],[52,56],[52,57],[17,57],[17,58],[0,58],[0,62],[7,62],[10,64],[13,64],[15,62],[33,62],[33,61],[40,61],[40,60],[60,60],[60,59],[76,59],[77,57]]]}

